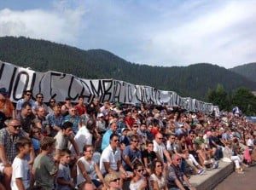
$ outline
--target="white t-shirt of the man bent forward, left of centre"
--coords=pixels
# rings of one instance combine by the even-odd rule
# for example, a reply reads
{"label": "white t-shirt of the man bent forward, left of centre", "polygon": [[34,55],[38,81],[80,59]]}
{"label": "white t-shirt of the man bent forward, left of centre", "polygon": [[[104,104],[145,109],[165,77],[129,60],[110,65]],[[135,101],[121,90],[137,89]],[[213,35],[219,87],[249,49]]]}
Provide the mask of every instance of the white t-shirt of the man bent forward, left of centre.
{"label": "white t-shirt of the man bent forward, left of centre", "polygon": [[[76,141],[79,146],[79,153],[83,153],[84,145],[92,145],[92,135],[90,134],[89,130],[83,126],[75,135],[74,141]],[[70,145],[69,149],[72,151],[72,153],[74,153],[73,145]]]}

